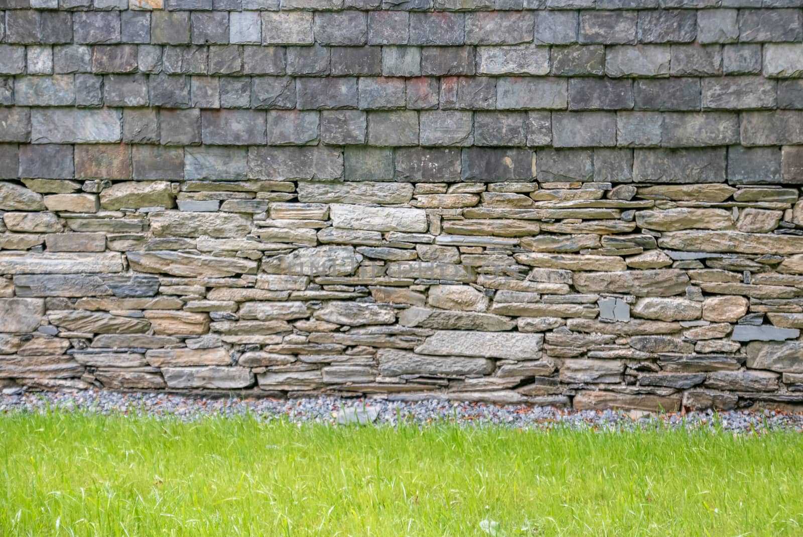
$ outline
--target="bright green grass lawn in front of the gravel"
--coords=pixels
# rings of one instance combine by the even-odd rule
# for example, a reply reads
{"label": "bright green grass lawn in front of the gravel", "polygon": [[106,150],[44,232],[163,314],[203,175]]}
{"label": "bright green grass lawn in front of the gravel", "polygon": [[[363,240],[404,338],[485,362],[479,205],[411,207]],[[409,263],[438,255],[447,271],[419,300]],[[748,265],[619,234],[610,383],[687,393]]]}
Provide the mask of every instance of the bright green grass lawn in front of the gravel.
{"label": "bright green grass lawn in front of the gravel", "polygon": [[803,535],[785,433],[14,414],[0,456],[3,536]]}

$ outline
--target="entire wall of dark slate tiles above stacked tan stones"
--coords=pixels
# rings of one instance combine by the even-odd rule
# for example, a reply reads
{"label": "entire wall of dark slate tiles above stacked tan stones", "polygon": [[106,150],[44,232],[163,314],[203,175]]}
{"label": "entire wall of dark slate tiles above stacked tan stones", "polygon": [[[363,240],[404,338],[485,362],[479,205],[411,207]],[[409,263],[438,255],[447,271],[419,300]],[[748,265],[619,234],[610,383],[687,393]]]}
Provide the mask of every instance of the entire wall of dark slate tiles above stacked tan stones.
{"label": "entire wall of dark slate tiles above stacked tan stones", "polygon": [[0,385],[803,403],[801,0],[0,0]]}

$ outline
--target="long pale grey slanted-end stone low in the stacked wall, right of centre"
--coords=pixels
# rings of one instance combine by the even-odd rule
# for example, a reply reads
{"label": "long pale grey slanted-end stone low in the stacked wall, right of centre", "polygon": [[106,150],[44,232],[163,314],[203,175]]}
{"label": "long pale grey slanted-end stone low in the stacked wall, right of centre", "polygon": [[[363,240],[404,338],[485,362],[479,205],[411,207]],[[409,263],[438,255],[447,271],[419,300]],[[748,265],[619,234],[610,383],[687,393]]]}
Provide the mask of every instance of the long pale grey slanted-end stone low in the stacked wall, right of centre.
{"label": "long pale grey slanted-end stone low in the stacked wall, right of centre", "polygon": [[438,356],[482,356],[508,360],[533,360],[540,357],[544,336],[515,332],[439,331],[428,337],[415,352]]}

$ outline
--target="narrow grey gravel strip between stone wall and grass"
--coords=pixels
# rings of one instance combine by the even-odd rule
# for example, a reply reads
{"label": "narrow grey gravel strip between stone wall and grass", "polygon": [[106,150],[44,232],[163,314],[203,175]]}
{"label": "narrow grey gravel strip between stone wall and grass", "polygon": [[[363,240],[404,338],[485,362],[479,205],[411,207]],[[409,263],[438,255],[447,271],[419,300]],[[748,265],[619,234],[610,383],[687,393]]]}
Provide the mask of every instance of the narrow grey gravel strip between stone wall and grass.
{"label": "narrow grey gravel strip between stone wall and grass", "polygon": [[[236,417],[251,413],[266,421],[284,419],[293,423],[328,425],[370,422],[396,425],[398,422],[430,425],[456,422],[459,425],[500,425],[522,429],[593,429],[600,431],[636,429],[714,429],[732,432],[789,430],[803,432],[803,413],[732,411],[650,414],[638,411],[566,410],[552,407],[452,403],[442,399],[387,401],[383,399],[342,399],[318,397],[275,400],[238,397],[194,397],[170,393],[128,393],[86,390],[77,393],[16,393],[0,395],[0,414],[43,413],[48,409],[87,413],[121,413],[128,416],[173,417],[184,421],[203,417]],[[717,425],[717,421],[719,424]]]}

